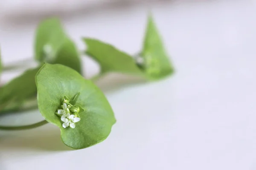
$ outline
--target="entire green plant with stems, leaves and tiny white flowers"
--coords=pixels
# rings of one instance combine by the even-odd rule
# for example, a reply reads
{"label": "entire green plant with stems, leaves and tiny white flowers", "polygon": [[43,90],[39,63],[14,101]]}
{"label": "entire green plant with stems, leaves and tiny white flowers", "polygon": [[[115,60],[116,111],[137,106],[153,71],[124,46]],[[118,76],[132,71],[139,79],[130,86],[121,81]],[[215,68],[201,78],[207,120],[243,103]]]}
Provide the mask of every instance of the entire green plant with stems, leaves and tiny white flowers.
{"label": "entire green plant with stems, leaves and tiny white flowers", "polygon": [[[86,79],[81,75],[81,55],[60,21],[57,18],[42,21],[35,37],[34,56],[38,66],[0,88],[0,115],[27,110],[36,104],[45,120],[26,126],[0,126],[0,129],[23,130],[49,122],[60,128],[63,143],[74,149],[105,140],[116,119],[108,100],[93,81],[110,72],[150,81],[174,72],[151,15],[145,32],[143,49],[135,57],[108,43],[83,38],[85,53],[100,65],[99,75]],[[2,70],[5,67],[0,62]]]}

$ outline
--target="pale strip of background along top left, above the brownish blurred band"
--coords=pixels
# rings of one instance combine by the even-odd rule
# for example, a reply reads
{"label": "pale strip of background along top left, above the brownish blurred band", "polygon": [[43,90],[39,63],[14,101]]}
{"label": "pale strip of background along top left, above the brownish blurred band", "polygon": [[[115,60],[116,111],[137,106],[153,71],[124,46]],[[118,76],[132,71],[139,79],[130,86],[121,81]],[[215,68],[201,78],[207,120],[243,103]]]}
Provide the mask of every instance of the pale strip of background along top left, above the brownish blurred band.
{"label": "pale strip of background along top left, above the brownish blurred band", "polygon": [[47,15],[67,11],[76,12],[82,8],[111,6],[116,3],[140,3],[141,1],[147,0],[0,0],[0,14],[5,17]]}

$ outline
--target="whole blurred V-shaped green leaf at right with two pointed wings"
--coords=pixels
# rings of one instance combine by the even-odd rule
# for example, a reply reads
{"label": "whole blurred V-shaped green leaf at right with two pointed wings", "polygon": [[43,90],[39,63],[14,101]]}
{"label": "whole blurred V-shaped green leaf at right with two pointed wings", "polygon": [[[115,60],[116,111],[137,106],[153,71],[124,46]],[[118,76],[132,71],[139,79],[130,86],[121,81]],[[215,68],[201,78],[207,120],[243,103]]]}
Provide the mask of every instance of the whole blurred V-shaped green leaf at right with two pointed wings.
{"label": "whole blurred V-shaped green leaf at right with two pointed wings", "polygon": [[174,72],[151,15],[148,17],[143,50],[136,57],[99,40],[89,38],[83,40],[87,45],[86,53],[99,62],[102,73],[112,71],[140,74],[147,79],[156,80]]}

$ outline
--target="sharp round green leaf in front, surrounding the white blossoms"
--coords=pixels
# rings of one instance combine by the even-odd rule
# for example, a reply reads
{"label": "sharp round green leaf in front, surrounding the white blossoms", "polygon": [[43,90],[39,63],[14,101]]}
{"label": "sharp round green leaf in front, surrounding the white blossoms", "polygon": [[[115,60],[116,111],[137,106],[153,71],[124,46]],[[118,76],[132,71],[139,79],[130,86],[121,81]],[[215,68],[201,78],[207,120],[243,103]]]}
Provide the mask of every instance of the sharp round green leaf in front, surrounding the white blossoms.
{"label": "sharp round green leaf in front, surrounding the white blossoms", "polygon": [[[36,85],[38,108],[48,122],[60,128],[64,144],[81,149],[108,137],[116,119],[108,100],[93,82],[64,65],[46,63],[36,75]],[[64,96],[85,109],[75,128],[62,127],[63,122],[55,113]]]}

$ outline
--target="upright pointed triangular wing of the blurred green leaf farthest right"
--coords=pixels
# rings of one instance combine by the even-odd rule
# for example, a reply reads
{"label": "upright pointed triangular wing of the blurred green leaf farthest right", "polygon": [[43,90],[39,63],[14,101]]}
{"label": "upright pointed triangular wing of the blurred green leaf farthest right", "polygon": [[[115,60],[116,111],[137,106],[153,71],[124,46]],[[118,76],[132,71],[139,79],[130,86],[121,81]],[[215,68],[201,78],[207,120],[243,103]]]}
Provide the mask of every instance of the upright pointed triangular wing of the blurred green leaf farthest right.
{"label": "upright pointed triangular wing of the blurred green leaf farthest right", "polygon": [[151,15],[148,17],[141,56],[144,60],[142,68],[149,79],[160,79],[174,72]]}

